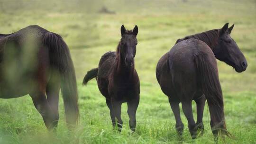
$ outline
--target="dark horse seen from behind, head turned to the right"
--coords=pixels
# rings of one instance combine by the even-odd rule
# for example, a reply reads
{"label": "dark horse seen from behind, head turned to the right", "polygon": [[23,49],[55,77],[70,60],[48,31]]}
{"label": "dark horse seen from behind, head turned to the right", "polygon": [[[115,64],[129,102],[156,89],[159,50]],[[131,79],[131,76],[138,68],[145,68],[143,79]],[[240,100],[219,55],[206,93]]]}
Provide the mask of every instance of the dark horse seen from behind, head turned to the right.
{"label": "dark horse seen from behind, head turned to the right", "polygon": [[[197,130],[204,130],[202,117],[207,99],[214,137],[217,138],[219,132],[229,136],[216,58],[229,64],[237,72],[246,70],[247,61],[229,35],[234,25],[228,25],[227,23],[221,29],[178,39],[173,48],[157,63],[156,78],[162,91],[169,97],[179,135],[182,135],[184,126],[179,103],[182,103],[191,136],[196,138]],[[196,123],[192,114],[192,100],[197,105]]]}

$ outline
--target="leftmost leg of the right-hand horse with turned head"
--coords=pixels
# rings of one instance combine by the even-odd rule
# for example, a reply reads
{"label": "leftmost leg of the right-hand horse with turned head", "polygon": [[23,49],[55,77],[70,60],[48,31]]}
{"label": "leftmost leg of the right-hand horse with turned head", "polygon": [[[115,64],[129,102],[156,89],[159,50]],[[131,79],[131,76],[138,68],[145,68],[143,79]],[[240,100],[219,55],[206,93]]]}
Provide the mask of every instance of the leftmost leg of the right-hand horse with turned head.
{"label": "leftmost leg of the right-hand horse with turned head", "polygon": [[179,136],[182,136],[184,125],[183,125],[182,120],[181,120],[179,102],[174,102],[169,98],[169,103],[170,103],[171,108],[174,112],[174,117],[175,117],[175,121],[176,121],[176,126],[175,127],[176,127],[177,134]]}

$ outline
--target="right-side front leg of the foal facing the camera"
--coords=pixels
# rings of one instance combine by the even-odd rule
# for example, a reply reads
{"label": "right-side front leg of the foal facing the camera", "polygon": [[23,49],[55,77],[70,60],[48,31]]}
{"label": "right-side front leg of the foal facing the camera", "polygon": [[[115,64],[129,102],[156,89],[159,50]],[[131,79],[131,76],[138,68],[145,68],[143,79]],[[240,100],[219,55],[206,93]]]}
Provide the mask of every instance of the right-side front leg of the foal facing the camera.
{"label": "right-side front leg of the foal facing the camera", "polygon": [[128,106],[127,113],[129,116],[129,126],[133,132],[135,132],[135,128],[136,128],[136,111],[138,108],[138,104],[139,104],[139,97],[127,102],[127,106]]}

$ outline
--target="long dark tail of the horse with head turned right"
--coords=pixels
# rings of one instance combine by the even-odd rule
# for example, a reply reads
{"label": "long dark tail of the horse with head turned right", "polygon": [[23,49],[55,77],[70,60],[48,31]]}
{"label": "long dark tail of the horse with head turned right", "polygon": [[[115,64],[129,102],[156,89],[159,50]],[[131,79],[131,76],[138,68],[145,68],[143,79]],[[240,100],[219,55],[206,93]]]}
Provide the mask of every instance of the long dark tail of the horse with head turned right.
{"label": "long dark tail of the horse with head turned right", "polygon": [[194,55],[198,86],[205,95],[210,110],[212,133],[215,136],[220,134],[230,137],[225,123],[224,104],[216,59],[214,58],[214,62],[212,62],[210,56],[204,52],[198,52]]}

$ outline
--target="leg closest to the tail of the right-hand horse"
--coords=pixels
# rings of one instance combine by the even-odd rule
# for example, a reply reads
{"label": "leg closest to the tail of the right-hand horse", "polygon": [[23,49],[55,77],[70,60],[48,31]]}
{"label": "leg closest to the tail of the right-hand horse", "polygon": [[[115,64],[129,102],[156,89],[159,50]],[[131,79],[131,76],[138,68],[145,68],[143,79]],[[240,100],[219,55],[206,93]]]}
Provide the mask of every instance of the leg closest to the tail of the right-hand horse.
{"label": "leg closest to the tail of the right-hand horse", "polygon": [[202,95],[201,98],[199,99],[195,99],[196,102],[196,111],[197,111],[197,121],[196,121],[196,125],[197,125],[197,129],[200,132],[200,134],[202,135],[204,132],[204,126],[203,126],[203,109],[205,106],[205,96]]}

